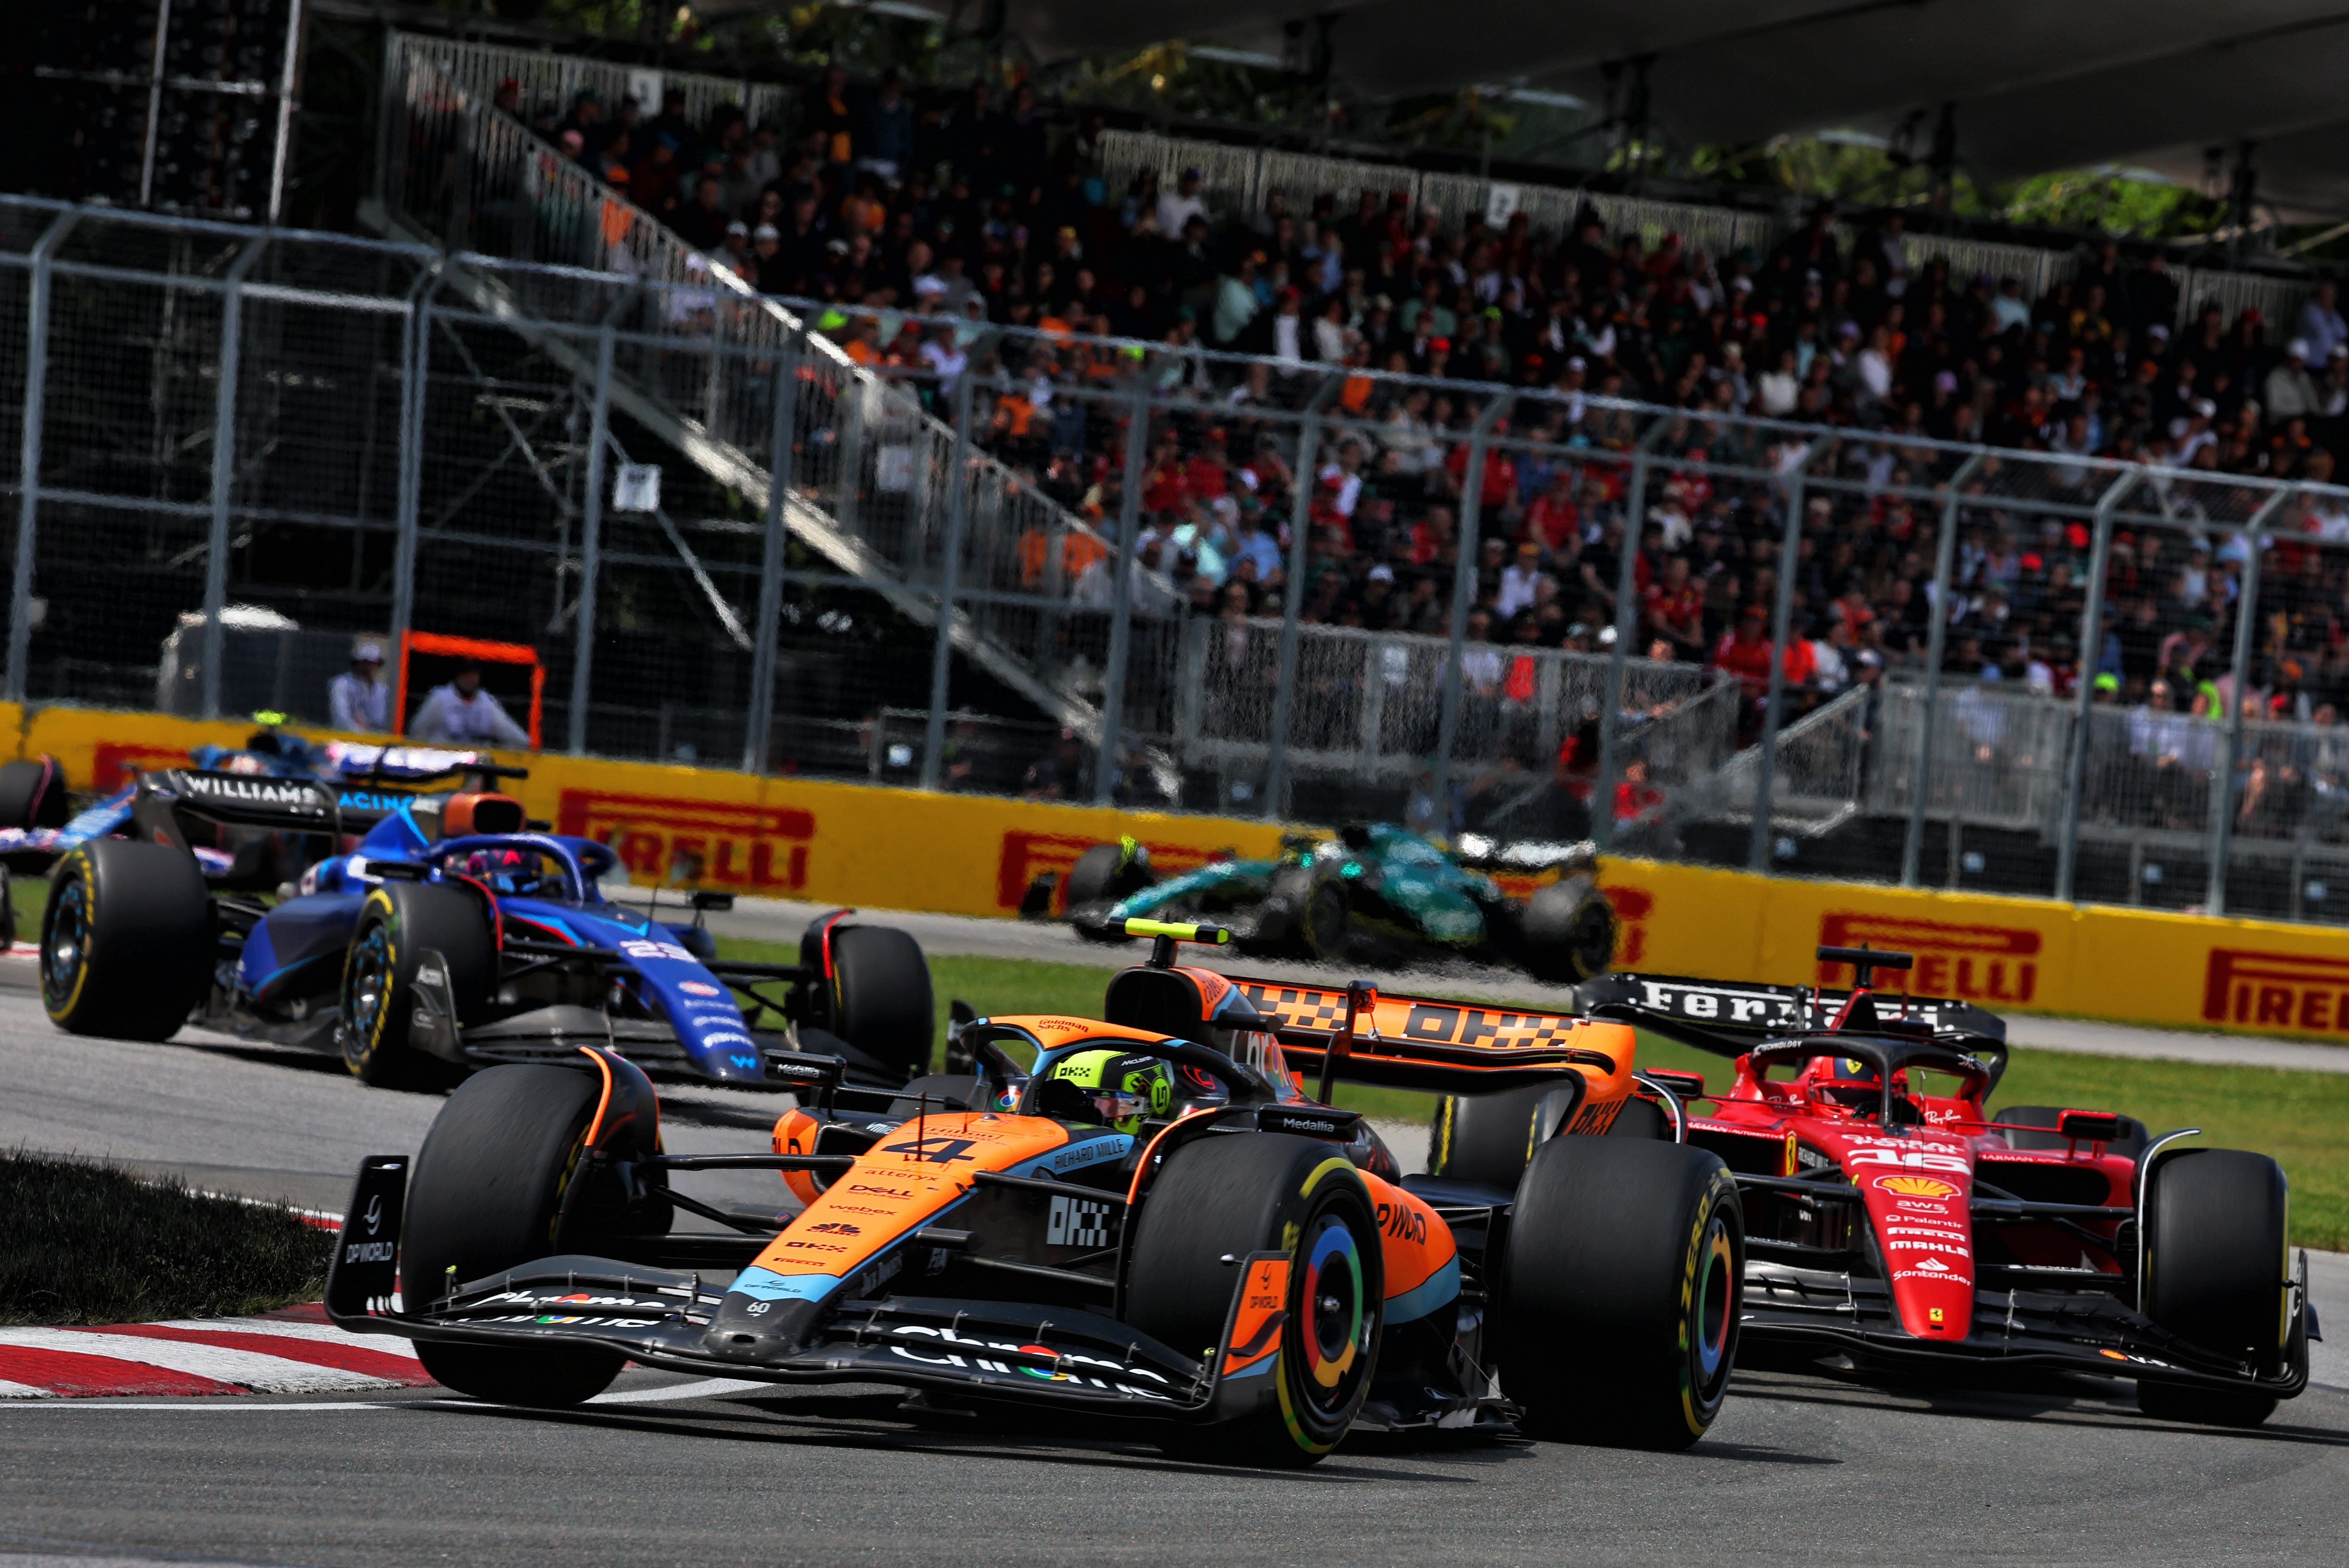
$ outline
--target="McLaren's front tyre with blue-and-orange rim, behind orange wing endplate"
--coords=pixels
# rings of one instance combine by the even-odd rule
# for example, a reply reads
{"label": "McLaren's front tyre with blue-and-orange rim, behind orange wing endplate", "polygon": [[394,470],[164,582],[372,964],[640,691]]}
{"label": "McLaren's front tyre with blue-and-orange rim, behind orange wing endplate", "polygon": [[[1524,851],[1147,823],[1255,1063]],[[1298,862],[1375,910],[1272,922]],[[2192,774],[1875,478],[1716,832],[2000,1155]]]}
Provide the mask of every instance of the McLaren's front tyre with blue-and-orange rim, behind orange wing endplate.
{"label": "McLaren's front tyre with blue-and-orange rim, behind orange wing endplate", "polygon": [[1214,1359],[1240,1270],[1226,1256],[1290,1256],[1273,1399],[1250,1415],[1160,1439],[1182,1458],[1294,1469],[1353,1427],[1384,1329],[1386,1270],[1362,1176],[1330,1143],[1287,1134],[1203,1138],[1165,1162],[1142,1209],[1128,1322]]}

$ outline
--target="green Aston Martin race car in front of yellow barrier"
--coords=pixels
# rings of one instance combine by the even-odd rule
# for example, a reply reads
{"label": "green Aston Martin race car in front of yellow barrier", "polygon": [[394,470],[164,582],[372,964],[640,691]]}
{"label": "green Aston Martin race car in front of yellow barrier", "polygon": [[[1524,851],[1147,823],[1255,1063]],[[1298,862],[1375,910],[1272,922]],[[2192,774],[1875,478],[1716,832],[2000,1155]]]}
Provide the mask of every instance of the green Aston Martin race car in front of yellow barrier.
{"label": "green Aston Martin race car in front of yellow barrier", "polygon": [[[1501,880],[1520,883],[1513,897]],[[1536,880],[1555,873],[1553,880]],[[1132,838],[1095,845],[1057,887],[1029,887],[1022,913],[1057,911],[1095,941],[1125,941],[1125,920],[1210,920],[1245,953],[1334,965],[1407,967],[1442,960],[1510,965],[1571,986],[1607,969],[1616,920],[1597,887],[1590,843],[1454,847],[1393,824],[1290,833],[1276,859],[1217,859],[1160,878]]]}

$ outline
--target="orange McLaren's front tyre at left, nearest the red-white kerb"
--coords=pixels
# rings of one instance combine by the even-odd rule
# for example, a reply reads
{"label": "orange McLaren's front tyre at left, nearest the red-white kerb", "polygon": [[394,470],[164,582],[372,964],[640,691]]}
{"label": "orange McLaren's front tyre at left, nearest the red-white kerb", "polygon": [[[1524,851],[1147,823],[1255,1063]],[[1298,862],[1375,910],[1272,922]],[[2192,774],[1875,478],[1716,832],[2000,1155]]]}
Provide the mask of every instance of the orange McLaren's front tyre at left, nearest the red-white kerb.
{"label": "orange McLaren's front tyre at left, nearest the red-white kerb", "polygon": [[[580,1176],[594,1073],[543,1063],[500,1066],[460,1084],[432,1117],[409,1181],[399,1237],[399,1296],[409,1312],[456,1284],[519,1263],[583,1251],[620,1228],[618,1192],[564,1192]],[[601,1394],[622,1357],[601,1350],[416,1343],[425,1371],[446,1387],[498,1404],[561,1406]]]}

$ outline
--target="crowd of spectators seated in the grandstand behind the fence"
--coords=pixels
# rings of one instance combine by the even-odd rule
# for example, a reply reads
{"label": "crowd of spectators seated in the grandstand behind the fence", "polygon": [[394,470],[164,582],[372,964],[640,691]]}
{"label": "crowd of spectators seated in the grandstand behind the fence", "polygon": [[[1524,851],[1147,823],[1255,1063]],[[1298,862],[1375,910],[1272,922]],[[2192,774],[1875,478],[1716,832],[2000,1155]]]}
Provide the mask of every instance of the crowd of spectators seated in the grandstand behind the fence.
{"label": "crowd of spectators seated in the grandstand behind the fence", "polygon": [[[1478,568],[1470,643],[1597,650],[1614,641],[1623,552],[1635,552],[1635,650],[1712,662],[1759,692],[1781,570],[1795,575],[1788,681],[1818,699],[1886,667],[1919,667],[1936,603],[1947,669],[2077,690],[2088,526],[2107,469],[2189,469],[2161,507],[2241,521],[2215,498],[2236,474],[2330,481],[2349,441],[2349,322],[2333,286],[2297,319],[2234,319],[2178,298],[2159,254],[2102,244],[2030,298],[2015,277],[1919,261],[1898,211],[1839,225],[1818,207],[1769,254],[1708,256],[1677,235],[1647,246],[1588,209],[1571,232],[1525,214],[1447,228],[1400,192],[1271,192],[1214,211],[1196,171],[1160,188],[1109,169],[1099,117],[1071,124],[1031,87],[916,94],[895,75],[832,70],[796,124],[719,110],[691,124],[651,106],[500,106],[763,293],[824,300],[860,361],[942,397],[968,369],[970,326],[1012,329],[980,439],[1064,507],[1116,519],[1135,357],[1158,345],[1163,406],[1146,432],[1132,573],[1142,615],[1280,610],[1299,486],[1304,615],[1447,634],[1459,552]],[[2185,305],[2185,315],[2180,315]],[[1254,361],[1217,357],[1252,354]],[[1308,373],[1322,366],[1322,373]],[[1372,376],[1391,371],[1400,378]],[[1294,411],[1337,373],[1308,474]],[[1120,380],[1123,378],[1123,380]],[[1402,380],[1407,378],[1407,380]],[[1468,427],[1501,387],[1539,392],[1489,427],[1468,495]],[[1684,411],[1633,516],[1626,453],[1642,423],[1607,399]],[[1797,432],[1846,432],[1804,502],[1783,563],[1783,474]],[[1933,584],[1940,507],[1882,493],[1952,462],[1921,439],[2044,453],[2030,477],[2048,516],[1976,481],[1959,512],[1954,582]],[[1722,474],[1743,467],[1743,477]],[[2147,502],[2152,507],[2152,502]],[[1475,535],[1461,538],[1475,512]],[[2262,561],[2253,702],[2262,716],[2349,707],[2342,556],[2349,507],[2297,500]],[[1116,566],[1092,540],[1055,561],[1038,542],[1005,570],[1106,606]],[[2220,716],[2246,552],[2225,528],[2121,528],[2107,629],[2088,678],[2140,711]],[[1496,650],[1499,653],[1499,650]],[[1475,657],[1470,683],[1508,662]],[[1494,695],[1494,692],[1485,692]]]}

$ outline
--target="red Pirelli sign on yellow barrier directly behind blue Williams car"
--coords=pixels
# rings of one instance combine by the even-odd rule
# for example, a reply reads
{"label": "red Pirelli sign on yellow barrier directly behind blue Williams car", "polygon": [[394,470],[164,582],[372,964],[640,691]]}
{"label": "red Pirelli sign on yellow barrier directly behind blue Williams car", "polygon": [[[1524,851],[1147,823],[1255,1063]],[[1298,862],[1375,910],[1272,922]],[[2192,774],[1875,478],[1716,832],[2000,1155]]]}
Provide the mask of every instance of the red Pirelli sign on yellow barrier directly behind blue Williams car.
{"label": "red Pirelli sign on yellow barrier directly behind blue Williams car", "polygon": [[782,894],[808,885],[815,812],[566,789],[554,831],[608,843],[632,880]]}

